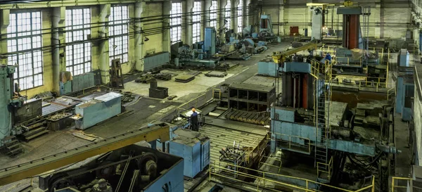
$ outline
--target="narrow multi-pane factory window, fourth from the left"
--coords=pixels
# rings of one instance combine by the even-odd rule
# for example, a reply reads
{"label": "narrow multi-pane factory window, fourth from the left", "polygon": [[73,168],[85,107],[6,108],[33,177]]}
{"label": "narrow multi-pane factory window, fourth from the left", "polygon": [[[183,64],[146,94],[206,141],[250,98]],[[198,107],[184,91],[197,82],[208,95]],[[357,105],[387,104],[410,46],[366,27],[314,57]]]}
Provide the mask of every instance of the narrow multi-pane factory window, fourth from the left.
{"label": "narrow multi-pane factory window, fourth from the left", "polygon": [[181,3],[172,3],[170,11],[170,43],[181,41]]}

